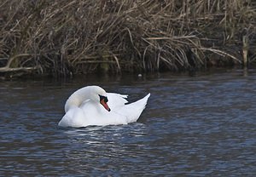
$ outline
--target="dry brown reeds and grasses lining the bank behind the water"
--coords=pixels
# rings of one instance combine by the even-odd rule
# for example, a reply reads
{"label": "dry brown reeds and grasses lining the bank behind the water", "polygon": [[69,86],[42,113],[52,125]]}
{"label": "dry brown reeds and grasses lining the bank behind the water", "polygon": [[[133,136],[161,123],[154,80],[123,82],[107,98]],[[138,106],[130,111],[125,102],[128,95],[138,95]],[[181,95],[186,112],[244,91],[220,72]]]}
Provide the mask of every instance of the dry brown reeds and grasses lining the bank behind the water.
{"label": "dry brown reeds and grasses lining the bank behind the water", "polygon": [[255,9],[253,0],[3,0],[0,74],[252,64]]}

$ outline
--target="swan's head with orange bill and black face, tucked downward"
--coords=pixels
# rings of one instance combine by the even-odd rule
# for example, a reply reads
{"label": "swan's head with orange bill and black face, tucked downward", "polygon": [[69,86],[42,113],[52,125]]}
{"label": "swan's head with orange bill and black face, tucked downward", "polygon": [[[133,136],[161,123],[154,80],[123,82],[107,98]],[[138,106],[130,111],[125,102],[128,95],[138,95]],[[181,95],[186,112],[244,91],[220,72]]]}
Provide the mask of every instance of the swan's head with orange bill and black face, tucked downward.
{"label": "swan's head with orange bill and black face, tucked downward", "polygon": [[100,88],[98,86],[92,86],[91,89],[91,100],[94,100],[96,102],[100,102],[101,105],[107,110],[110,111],[110,108],[108,107],[108,97],[107,93],[103,88]]}

